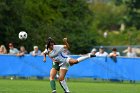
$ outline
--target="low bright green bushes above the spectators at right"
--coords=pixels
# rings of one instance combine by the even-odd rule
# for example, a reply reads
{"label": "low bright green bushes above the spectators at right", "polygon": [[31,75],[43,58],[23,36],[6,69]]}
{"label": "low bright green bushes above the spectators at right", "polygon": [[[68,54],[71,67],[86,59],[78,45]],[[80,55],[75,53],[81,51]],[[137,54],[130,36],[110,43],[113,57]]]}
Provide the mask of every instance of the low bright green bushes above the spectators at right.
{"label": "low bright green bushes above the spectators at right", "polygon": [[120,46],[120,45],[139,45],[140,34],[136,28],[130,28],[123,32],[108,32],[107,38],[102,38],[103,45]]}

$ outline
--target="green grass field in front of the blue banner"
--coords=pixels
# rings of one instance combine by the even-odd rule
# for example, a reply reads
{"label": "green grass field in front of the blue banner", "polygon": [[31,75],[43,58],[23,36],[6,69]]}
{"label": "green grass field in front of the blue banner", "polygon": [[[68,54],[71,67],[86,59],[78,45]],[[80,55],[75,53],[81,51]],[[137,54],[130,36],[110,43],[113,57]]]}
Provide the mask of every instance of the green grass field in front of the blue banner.
{"label": "green grass field in front of the blue banner", "polygon": [[[140,84],[67,81],[71,93],[140,93]],[[57,93],[64,93],[57,82]],[[0,93],[51,93],[48,80],[0,79]]]}

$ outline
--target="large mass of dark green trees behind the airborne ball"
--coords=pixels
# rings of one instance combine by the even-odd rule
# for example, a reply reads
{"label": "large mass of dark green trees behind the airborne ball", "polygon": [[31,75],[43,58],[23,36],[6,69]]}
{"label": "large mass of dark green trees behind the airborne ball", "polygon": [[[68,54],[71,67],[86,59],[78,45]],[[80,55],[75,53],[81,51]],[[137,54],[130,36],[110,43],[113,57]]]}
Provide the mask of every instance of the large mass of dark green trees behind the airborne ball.
{"label": "large mass of dark green trees behind the airborne ball", "polygon": [[[0,6],[1,43],[14,42],[17,47],[22,44],[29,51],[38,45],[43,50],[51,36],[58,44],[68,37],[74,53],[87,52],[91,46],[87,43],[93,13],[85,0],[2,0]],[[28,33],[25,41],[18,39],[22,30]]]}

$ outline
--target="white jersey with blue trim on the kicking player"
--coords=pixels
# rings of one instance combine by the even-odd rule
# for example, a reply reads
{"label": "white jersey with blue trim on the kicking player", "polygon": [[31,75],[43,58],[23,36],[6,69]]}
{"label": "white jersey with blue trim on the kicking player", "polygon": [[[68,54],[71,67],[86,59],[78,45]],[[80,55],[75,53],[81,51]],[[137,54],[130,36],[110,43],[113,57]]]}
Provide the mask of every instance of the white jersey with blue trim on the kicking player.
{"label": "white jersey with blue trim on the kicking player", "polygon": [[49,53],[48,56],[60,63],[65,62],[68,58],[68,55],[64,53],[64,45],[54,45],[52,51],[46,49],[44,53]]}

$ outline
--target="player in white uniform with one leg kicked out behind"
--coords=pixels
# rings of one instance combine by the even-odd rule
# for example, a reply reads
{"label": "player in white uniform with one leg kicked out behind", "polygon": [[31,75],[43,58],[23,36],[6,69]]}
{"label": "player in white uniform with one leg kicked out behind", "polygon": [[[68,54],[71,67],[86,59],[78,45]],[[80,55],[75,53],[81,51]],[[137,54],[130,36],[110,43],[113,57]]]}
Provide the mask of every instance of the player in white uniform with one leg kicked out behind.
{"label": "player in white uniform with one leg kicked out behind", "polygon": [[[63,50],[66,48],[69,48],[69,44],[67,42],[67,38],[63,39],[64,45],[55,45],[55,42],[50,39],[47,43],[47,49],[46,53],[44,55],[44,61],[46,61],[46,54],[53,60],[53,62],[58,62],[60,66],[59,71],[59,82],[64,89],[65,93],[70,93],[68,86],[64,80],[65,75],[67,73],[68,67],[70,65],[77,64],[87,58],[95,57],[95,55],[85,55],[82,57],[79,57],[78,59],[72,59],[68,57],[65,53],[63,53]],[[56,93],[56,92],[54,92]]]}

